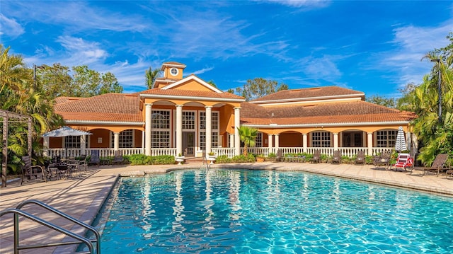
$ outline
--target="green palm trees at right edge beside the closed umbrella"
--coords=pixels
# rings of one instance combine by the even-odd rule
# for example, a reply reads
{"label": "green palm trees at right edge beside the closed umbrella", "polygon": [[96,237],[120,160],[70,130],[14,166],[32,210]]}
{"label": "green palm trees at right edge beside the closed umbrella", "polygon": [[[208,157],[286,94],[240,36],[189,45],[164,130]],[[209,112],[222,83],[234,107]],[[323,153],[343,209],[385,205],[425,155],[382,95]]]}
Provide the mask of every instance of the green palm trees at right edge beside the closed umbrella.
{"label": "green palm trees at right edge beside the closed umbrella", "polygon": [[[440,59],[434,64],[430,74],[425,75],[423,83],[409,93],[413,112],[418,115],[413,123],[413,133],[421,145],[418,158],[424,163],[432,163],[435,156],[447,153],[453,157],[453,33],[447,36],[450,44],[447,47],[428,52],[423,59],[430,61]],[[438,113],[438,73],[441,74],[442,115]],[[439,117],[441,121],[439,122]]]}

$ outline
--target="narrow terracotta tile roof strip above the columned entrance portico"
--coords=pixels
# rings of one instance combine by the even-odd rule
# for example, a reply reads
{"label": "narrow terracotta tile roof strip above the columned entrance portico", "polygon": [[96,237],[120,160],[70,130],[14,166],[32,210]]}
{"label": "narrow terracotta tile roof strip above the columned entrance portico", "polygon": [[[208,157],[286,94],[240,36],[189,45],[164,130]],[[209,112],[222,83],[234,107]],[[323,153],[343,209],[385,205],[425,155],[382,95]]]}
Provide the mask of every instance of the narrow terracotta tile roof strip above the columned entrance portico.
{"label": "narrow terracotta tile roof strip above the columned entrance portico", "polygon": [[159,88],[153,88],[146,91],[140,92],[140,94],[154,94],[161,96],[184,96],[184,97],[205,97],[205,98],[228,98],[243,100],[241,96],[236,96],[233,93],[216,93],[213,91],[191,91],[182,89],[168,89],[162,90]]}

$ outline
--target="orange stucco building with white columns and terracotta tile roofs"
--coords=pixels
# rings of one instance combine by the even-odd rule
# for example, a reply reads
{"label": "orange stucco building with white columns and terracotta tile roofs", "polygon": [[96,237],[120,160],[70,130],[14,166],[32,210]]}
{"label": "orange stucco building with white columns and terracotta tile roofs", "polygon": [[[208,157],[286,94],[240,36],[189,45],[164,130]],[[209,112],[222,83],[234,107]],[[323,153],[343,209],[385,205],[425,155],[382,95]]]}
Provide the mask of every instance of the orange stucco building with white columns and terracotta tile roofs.
{"label": "orange stucco building with white columns and terracotta tile roofs", "polygon": [[164,63],[163,77],[139,93],[57,98],[55,111],[66,124],[92,135],[45,139],[45,147],[50,154],[73,156],[89,149],[104,156],[118,149],[125,154],[197,157],[205,150],[234,156],[241,153],[237,127],[247,125],[259,130],[252,149],[256,154],[342,149],[352,156],[358,149],[375,154],[393,147],[399,126],[411,136],[413,113],[367,103],[360,91],[302,88],[246,102],[193,74],[184,77],[184,69],[178,62]]}

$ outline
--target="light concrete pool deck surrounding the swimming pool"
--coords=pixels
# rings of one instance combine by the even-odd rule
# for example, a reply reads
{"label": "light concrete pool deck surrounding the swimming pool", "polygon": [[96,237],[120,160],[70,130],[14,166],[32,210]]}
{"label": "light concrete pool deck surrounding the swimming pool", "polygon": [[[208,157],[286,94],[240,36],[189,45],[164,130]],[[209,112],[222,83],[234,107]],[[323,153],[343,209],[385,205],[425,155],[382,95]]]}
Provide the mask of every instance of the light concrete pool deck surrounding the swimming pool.
{"label": "light concrete pool deck surrounding the swimming pool", "polygon": [[[0,188],[0,211],[16,207],[24,200],[39,200],[58,209],[71,217],[91,224],[101,209],[104,200],[115,184],[118,176],[145,175],[147,173],[166,173],[178,169],[200,168],[201,163],[188,163],[182,166],[101,166],[90,167],[83,177],[69,180],[52,180],[47,183],[35,182],[20,185],[19,182],[8,183]],[[453,178],[445,175],[420,175],[420,171],[408,172],[386,171],[372,165],[358,166],[350,164],[329,163],[230,163],[214,164],[212,168],[249,168],[270,169],[277,171],[306,171],[333,175],[352,180],[363,180],[395,187],[404,187],[424,192],[432,192],[453,197]],[[83,229],[73,226],[69,221],[57,218],[35,204],[28,204],[23,210],[38,215],[64,229],[81,233]],[[32,243],[61,242],[64,236],[55,231],[37,226],[33,221],[21,220],[21,245]],[[71,248],[46,248],[21,250],[21,253],[68,253]],[[0,253],[13,253],[13,216],[6,214],[0,218]]]}

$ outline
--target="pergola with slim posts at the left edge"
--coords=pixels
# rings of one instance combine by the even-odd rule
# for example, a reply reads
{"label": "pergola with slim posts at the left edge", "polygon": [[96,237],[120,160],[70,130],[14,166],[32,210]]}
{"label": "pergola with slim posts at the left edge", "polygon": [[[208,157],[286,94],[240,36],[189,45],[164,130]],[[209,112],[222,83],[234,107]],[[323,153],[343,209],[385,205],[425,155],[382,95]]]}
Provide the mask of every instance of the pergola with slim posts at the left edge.
{"label": "pergola with slim posts at the left edge", "polygon": [[27,154],[31,156],[31,142],[32,142],[32,117],[28,115],[21,115],[15,112],[9,112],[6,110],[0,110],[0,118],[3,118],[3,142],[1,144],[2,156],[1,160],[1,187],[6,187],[6,166],[8,165],[8,123],[10,122],[27,122],[28,123],[28,134]]}

